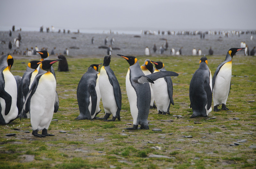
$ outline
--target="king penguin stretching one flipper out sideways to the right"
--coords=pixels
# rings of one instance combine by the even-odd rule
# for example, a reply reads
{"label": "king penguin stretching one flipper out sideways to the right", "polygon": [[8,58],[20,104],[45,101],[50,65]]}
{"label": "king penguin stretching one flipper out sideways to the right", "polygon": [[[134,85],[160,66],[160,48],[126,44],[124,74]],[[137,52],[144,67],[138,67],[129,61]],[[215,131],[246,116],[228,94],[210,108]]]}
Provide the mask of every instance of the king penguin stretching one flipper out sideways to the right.
{"label": "king penguin stretching one flipper out sideways to the right", "polygon": [[156,72],[145,75],[137,58],[134,56],[123,57],[130,65],[126,74],[126,92],[130,104],[130,110],[133,118],[133,127],[127,130],[137,130],[140,124],[140,129],[148,130],[148,113],[150,108],[151,94],[148,82],[154,83],[155,80],[165,76],[178,76],[179,74],[170,71]]}

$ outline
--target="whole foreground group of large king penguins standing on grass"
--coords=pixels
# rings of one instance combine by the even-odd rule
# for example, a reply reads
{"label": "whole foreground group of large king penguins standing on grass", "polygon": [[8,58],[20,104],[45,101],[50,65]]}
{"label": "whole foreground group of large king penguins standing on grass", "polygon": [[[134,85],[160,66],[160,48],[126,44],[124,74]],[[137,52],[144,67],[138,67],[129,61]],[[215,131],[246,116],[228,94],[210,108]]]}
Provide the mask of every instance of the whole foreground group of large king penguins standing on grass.
{"label": "whole foreground group of large king penguins standing on grass", "polygon": [[[189,86],[190,108],[197,116],[208,116],[212,111],[212,95],[214,111],[228,110],[226,101],[230,91],[232,74],[232,58],[235,53],[244,48],[231,48],[228,50],[225,61],[216,69],[213,78],[208,68],[207,58],[202,57],[199,68],[193,74]],[[45,60],[49,53],[37,51],[41,60],[32,60],[27,65],[23,77],[13,76],[10,72],[13,65],[11,55],[3,55],[0,59],[0,123],[7,124],[14,119],[30,118],[32,135],[36,137],[54,136],[47,133],[53,112],[59,109],[59,98],[56,92],[56,77],[52,67],[57,60]],[[140,66],[134,56],[124,56],[129,63],[126,75],[126,92],[130,104],[133,127],[127,130],[149,129],[148,114],[150,108],[157,108],[158,114],[170,114],[170,105],[174,105],[172,94],[173,86],[171,76],[179,74],[166,71],[164,63],[160,61],[145,60]],[[77,102],[80,114],[77,120],[104,119],[115,121],[120,119],[122,95],[119,82],[110,68],[111,55],[105,56],[103,65],[92,64],[82,76],[77,86]],[[155,68],[153,67],[155,64]],[[101,111],[99,107],[102,100],[105,116],[96,117]],[[154,104],[156,102],[156,105]],[[112,114],[112,119],[108,120]],[[140,125],[140,128],[138,126]],[[42,134],[38,131],[42,130]]]}

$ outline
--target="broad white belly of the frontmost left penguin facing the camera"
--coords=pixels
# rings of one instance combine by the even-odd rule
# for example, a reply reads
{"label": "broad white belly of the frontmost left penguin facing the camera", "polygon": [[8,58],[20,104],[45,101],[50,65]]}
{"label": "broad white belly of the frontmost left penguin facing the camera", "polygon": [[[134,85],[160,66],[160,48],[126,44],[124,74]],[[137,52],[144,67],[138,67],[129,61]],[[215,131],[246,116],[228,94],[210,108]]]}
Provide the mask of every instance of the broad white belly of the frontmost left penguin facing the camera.
{"label": "broad white belly of the frontmost left penguin facing the camera", "polygon": [[33,130],[48,129],[54,111],[55,90],[56,81],[53,74],[43,74],[30,100],[30,121]]}

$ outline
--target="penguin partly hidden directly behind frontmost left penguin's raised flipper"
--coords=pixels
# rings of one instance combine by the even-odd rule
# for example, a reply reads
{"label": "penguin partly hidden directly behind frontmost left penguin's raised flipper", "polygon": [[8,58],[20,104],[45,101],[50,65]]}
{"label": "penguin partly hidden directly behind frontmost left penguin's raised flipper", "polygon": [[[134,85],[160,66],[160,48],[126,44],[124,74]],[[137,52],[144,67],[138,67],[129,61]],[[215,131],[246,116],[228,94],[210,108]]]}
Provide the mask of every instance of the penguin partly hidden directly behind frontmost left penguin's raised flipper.
{"label": "penguin partly hidden directly behind frontmost left penguin's raised flipper", "polygon": [[[21,82],[20,82],[20,88],[22,91],[22,100],[25,101],[26,96],[28,95],[28,91],[36,77],[36,74],[38,73],[37,67],[38,67],[39,60],[32,60],[28,63],[26,72],[23,74]],[[23,118],[30,118],[29,112],[24,112]]]}

